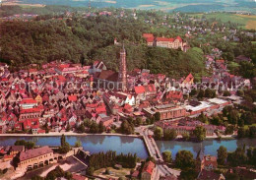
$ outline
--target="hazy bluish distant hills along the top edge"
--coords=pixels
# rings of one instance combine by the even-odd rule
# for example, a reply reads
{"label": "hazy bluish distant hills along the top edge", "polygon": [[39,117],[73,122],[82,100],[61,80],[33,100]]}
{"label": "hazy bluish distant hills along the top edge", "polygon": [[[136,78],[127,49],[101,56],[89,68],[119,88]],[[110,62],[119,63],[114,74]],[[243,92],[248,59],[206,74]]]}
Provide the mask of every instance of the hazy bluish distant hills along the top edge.
{"label": "hazy bluish distant hills along the top edge", "polygon": [[254,0],[5,0],[25,5],[66,5],[73,7],[92,6],[97,8],[156,9],[181,12],[242,12],[256,14]]}

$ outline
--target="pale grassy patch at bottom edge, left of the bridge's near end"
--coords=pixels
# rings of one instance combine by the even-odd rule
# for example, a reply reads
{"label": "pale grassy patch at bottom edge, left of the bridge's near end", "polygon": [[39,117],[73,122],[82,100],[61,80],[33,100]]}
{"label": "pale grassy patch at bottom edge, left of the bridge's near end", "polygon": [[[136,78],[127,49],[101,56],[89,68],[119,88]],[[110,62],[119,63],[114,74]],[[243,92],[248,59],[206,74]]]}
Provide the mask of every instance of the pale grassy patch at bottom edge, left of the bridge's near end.
{"label": "pale grassy patch at bottom edge, left of the bridge's near end", "polygon": [[130,174],[130,170],[129,168],[122,168],[120,170],[117,170],[117,169],[114,169],[112,167],[108,167],[109,171],[110,171],[110,174],[109,175],[106,175],[104,174],[105,172],[105,168],[101,168],[101,169],[98,169],[95,171],[95,175],[96,176],[100,176],[100,177],[103,177],[103,178],[119,178],[119,177],[124,177],[126,175],[129,175]]}

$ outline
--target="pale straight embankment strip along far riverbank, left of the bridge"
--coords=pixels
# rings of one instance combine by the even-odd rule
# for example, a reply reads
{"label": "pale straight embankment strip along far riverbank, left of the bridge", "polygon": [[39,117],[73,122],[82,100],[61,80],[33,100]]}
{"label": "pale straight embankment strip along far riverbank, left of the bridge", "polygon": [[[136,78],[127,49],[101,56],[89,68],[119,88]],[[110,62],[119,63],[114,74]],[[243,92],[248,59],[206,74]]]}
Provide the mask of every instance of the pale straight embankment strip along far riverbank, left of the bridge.
{"label": "pale straight embankment strip along far riverbank, left of the bridge", "polygon": [[88,133],[74,133],[74,132],[50,132],[46,134],[0,134],[0,137],[60,137],[62,135],[65,136],[120,136],[120,137],[133,137],[133,138],[141,138],[141,135],[123,135],[118,133],[101,133],[101,134],[88,134]]}

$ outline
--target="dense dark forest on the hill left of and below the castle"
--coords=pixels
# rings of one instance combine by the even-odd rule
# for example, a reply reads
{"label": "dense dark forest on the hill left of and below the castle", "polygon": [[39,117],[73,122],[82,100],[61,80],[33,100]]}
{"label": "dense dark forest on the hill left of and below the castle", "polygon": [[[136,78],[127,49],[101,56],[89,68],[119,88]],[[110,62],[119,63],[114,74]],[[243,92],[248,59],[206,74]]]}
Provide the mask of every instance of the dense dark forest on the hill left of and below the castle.
{"label": "dense dark forest on the hill left of and below the castle", "polygon": [[99,59],[117,70],[120,47],[113,44],[116,37],[125,43],[129,70],[148,68],[174,77],[203,72],[202,52],[148,47],[142,37],[148,31],[151,27],[142,21],[103,16],[7,22],[0,30],[1,57],[15,68],[56,59],[79,62],[84,54],[88,64]]}

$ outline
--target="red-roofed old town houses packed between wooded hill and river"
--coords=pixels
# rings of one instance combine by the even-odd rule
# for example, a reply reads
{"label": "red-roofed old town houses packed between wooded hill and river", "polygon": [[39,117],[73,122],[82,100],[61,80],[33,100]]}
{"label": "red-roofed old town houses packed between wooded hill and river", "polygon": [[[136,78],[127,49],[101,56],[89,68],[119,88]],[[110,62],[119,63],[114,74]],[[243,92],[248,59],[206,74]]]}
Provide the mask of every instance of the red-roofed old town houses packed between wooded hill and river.
{"label": "red-roofed old town houses packed between wooded hill and river", "polygon": [[[153,37],[151,34],[144,36]],[[176,39],[182,42],[180,37]],[[206,68],[213,69],[214,73],[212,77],[202,77],[203,88],[215,83],[214,88],[218,91],[217,87],[224,82],[229,85],[235,81],[235,87],[246,83],[226,72],[223,59],[215,60],[217,53],[222,52],[216,49],[213,52],[214,55],[206,56]],[[119,72],[108,70],[100,60],[91,66],[56,60],[41,67],[32,64],[27,70],[9,73],[0,79],[0,133],[40,134],[46,130],[66,131],[67,128],[76,131],[85,119],[102,122],[109,129],[122,118],[142,117],[146,120],[160,113],[160,121],[175,120],[231,103],[217,97],[184,99],[184,95],[197,88],[191,73],[173,80],[163,74],[151,74],[147,69],[127,71],[124,45],[120,48]],[[9,72],[8,68],[1,64],[2,71]],[[226,90],[233,90],[228,85]],[[208,135],[213,135],[215,127],[203,126]],[[193,130],[192,126],[171,128],[178,134]]]}

